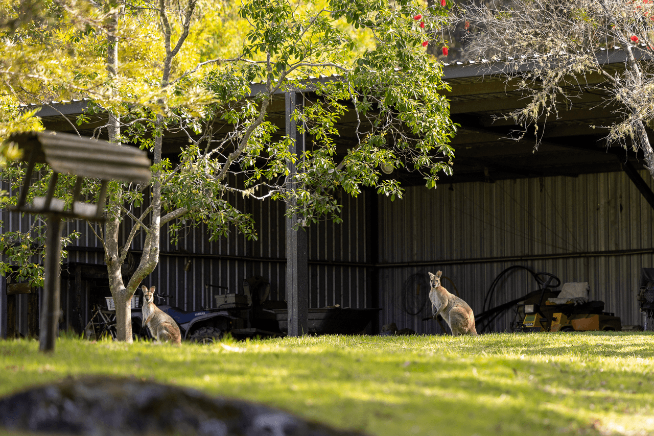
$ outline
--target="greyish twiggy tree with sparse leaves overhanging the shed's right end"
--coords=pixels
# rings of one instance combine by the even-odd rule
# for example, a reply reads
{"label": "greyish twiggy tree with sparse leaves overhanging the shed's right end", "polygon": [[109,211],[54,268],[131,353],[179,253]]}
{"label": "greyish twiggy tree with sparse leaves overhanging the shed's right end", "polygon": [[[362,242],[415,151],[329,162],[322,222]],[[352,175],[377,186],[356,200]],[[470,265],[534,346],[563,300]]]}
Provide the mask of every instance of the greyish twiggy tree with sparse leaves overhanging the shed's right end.
{"label": "greyish twiggy tree with sparse leaves overhanging the shed's right end", "polygon": [[645,127],[654,125],[654,2],[650,0],[505,1],[460,5],[453,25],[468,29],[468,53],[504,65],[526,97],[507,116],[540,139],[547,117],[574,107],[579,92],[614,109],[608,144],[641,151],[654,176]]}

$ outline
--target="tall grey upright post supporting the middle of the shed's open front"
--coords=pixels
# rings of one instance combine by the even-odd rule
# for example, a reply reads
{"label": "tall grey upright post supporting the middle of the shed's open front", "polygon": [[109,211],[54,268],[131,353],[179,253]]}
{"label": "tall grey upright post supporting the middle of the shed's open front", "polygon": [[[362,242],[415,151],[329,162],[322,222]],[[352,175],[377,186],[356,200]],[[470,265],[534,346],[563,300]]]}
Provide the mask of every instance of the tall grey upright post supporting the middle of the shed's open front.
{"label": "tall grey upright post supporting the middle of the shed's open front", "polygon": [[[304,150],[304,134],[298,131],[294,110],[302,108],[302,95],[286,93],[286,136],[291,139],[290,152],[300,158]],[[288,177],[293,180],[296,165],[288,162]],[[291,182],[289,190],[296,185]],[[294,206],[294,201],[286,204]],[[307,232],[304,228],[294,229],[301,219],[297,214],[286,216],[286,301],[288,303],[288,336],[309,333],[309,264],[307,263]]]}

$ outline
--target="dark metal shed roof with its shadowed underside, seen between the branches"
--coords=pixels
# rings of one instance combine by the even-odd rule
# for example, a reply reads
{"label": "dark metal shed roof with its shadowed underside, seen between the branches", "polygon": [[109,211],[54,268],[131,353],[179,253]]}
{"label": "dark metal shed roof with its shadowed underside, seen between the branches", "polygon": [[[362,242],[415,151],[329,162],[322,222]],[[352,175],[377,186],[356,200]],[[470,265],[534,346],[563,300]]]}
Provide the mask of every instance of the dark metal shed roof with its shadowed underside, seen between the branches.
{"label": "dark metal shed roof with its shadowed underside, seen between the branches", "polygon": [[[600,56],[605,57],[606,64],[615,69],[625,62],[625,52],[619,48],[604,50]],[[525,71],[528,59],[525,59]],[[577,176],[587,173],[604,173],[621,171],[625,163],[635,169],[641,169],[642,156],[625,152],[619,146],[608,148],[604,138],[615,118],[616,107],[599,105],[602,92],[595,88],[602,78],[587,76],[587,83],[581,86],[578,97],[572,106],[560,108],[559,118],[543,120],[546,124],[540,129],[542,144],[534,150],[534,137],[525,136],[520,141],[511,139],[511,133],[519,126],[504,114],[513,109],[524,107],[524,96],[511,82],[505,82],[502,64],[495,61],[445,64],[444,78],[451,86],[445,92],[451,103],[451,117],[460,124],[460,129],[453,139],[456,150],[454,175],[441,176],[441,183],[449,184],[467,181],[502,180],[506,178],[525,178],[541,176]],[[333,80],[333,76],[320,76],[310,80]],[[257,86],[253,84],[252,92]],[[593,89],[591,90],[591,87]],[[39,116],[43,118],[48,129],[72,131],[72,118],[86,107],[86,101],[51,103],[43,107]],[[268,110],[269,119],[284,129],[283,95],[273,98]],[[339,154],[344,154],[351,147],[356,122],[354,116],[346,116],[337,124],[341,137],[336,141]],[[82,135],[91,135],[97,126],[105,121],[101,116],[80,128]],[[599,127],[595,127],[599,126]],[[542,126],[543,127],[543,126]],[[172,156],[179,146],[188,141],[186,135],[167,133],[164,140],[164,152]],[[422,176],[415,173],[400,173],[400,179],[407,184],[422,184]]]}

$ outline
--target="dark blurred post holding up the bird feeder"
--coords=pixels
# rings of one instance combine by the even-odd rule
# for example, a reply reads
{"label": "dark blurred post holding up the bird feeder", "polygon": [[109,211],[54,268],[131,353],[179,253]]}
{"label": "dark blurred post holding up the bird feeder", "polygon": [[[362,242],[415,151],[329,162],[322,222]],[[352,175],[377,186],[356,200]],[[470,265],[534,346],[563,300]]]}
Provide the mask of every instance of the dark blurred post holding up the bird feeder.
{"label": "dark blurred post holding up the bird feeder", "polygon": [[43,299],[41,301],[41,331],[39,331],[39,350],[54,351],[59,330],[61,305],[61,217],[48,216],[46,224],[46,255],[44,267]]}

